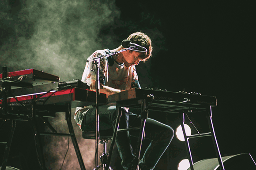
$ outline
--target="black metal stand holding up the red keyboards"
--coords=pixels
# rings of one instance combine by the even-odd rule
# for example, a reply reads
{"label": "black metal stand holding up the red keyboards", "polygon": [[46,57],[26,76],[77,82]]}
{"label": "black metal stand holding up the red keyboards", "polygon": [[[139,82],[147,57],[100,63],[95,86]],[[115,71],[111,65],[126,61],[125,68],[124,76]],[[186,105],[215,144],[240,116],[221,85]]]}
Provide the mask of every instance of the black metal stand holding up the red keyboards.
{"label": "black metal stand holding up the red keyboards", "polygon": [[[57,133],[56,130],[54,130],[54,128],[49,124],[48,121],[45,121],[45,124],[50,128],[50,130],[52,130],[52,133],[46,133],[46,132],[40,133],[39,132],[37,122],[35,119],[36,110],[45,110],[45,108],[47,108],[47,110],[53,111],[53,112],[65,112],[65,119],[67,121],[68,130],[69,130],[68,134]],[[41,119],[43,119],[42,116],[39,116],[39,117],[41,117]],[[72,122],[71,122],[72,112],[71,112],[71,104],[70,103],[68,103],[67,105],[36,105],[36,104],[32,104],[30,113],[28,115],[16,116],[16,115],[9,115],[9,114],[7,114],[7,115],[0,114],[0,119],[4,120],[4,122],[1,124],[1,127],[3,127],[4,123],[6,123],[7,120],[12,121],[11,133],[10,133],[8,142],[1,142],[2,144],[6,145],[1,170],[5,170],[6,166],[7,166],[8,155],[9,155],[9,151],[10,151],[10,147],[11,147],[11,141],[13,138],[17,120],[26,120],[26,121],[28,121],[28,123],[30,123],[30,125],[32,127],[32,130],[34,133],[34,142],[36,145],[36,153],[37,153],[38,162],[41,167],[41,170],[46,170],[45,158],[43,156],[43,150],[42,150],[42,144],[41,144],[41,136],[43,136],[43,135],[70,136],[72,139],[72,143],[73,143],[73,146],[75,149],[75,153],[76,153],[80,168],[81,168],[81,170],[86,170],[84,163],[83,163],[83,158],[82,158],[82,155],[79,150],[79,146],[78,146],[78,143],[77,143],[77,140],[75,137],[75,132],[74,132],[74,129],[72,126]]]}

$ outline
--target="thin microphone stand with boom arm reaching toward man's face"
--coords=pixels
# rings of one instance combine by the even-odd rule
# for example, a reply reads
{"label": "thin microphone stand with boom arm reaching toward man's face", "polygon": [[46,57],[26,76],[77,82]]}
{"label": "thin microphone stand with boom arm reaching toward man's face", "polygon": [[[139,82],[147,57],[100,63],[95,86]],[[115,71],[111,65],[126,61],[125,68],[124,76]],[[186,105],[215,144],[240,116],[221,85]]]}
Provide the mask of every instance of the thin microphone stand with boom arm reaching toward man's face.
{"label": "thin microphone stand with boom arm reaching toward man's face", "polygon": [[[97,72],[96,72],[96,105],[95,105],[95,116],[96,116],[96,141],[95,141],[95,170],[98,170],[98,143],[99,143],[99,137],[100,137],[100,134],[99,134],[99,102],[98,102],[98,99],[99,99],[99,94],[100,94],[100,80],[99,80],[99,71],[100,71],[100,60],[104,57],[109,57],[111,55],[117,55],[121,52],[124,52],[124,51],[127,51],[127,50],[131,50],[131,47],[129,48],[124,48],[120,51],[114,51],[114,52],[111,52],[109,54],[106,54],[106,55],[99,55],[98,57],[95,57],[95,58],[91,58],[89,60],[87,60],[87,62],[90,62],[90,61],[93,61],[93,64],[96,66],[95,69],[97,69]],[[94,66],[93,66],[94,67]],[[92,68],[94,69],[94,68]]]}

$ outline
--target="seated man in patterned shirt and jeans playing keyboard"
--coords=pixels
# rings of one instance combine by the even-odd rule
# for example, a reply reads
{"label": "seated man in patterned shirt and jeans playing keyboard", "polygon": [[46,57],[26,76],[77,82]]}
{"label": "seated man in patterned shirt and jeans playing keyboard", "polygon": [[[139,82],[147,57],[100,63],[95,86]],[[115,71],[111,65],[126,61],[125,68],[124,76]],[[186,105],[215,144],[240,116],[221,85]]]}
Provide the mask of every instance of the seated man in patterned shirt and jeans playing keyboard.
{"label": "seated man in patterned shirt and jeans playing keyboard", "polygon": [[[112,55],[108,58],[103,58],[100,62],[100,92],[108,95],[119,93],[122,90],[128,90],[133,87],[140,88],[135,65],[139,61],[146,61],[151,57],[152,46],[150,38],[144,33],[133,33],[128,36],[127,40],[132,41],[147,49],[147,52],[138,52],[127,50]],[[121,45],[114,50],[99,50],[95,51],[88,59],[98,55],[106,55],[113,51],[124,49]],[[91,90],[95,90],[96,73],[92,62],[87,62],[82,81],[86,83]],[[116,107],[114,105],[105,105],[99,107],[99,128],[107,130],[115,126]],[[75,121],[82,130],[95,130],[95,109],[92,106],[80,108],[75,112]],[[120,118],[120,128],[139,127],[140,119],[137,115],[122,109]],[[139,162],[141,170],[153,170],[158,160],[165,152],[171,142],[174,131],[171,127],[162,124],[156,120],[147,118],[145,125],[146,138],[151,140],[143,158]],[[129,132],[120,132],[116,138],[117,148],[122,159],[124,170],[130,170],[134,155],[132,154],[132,146],[130,144]]]}

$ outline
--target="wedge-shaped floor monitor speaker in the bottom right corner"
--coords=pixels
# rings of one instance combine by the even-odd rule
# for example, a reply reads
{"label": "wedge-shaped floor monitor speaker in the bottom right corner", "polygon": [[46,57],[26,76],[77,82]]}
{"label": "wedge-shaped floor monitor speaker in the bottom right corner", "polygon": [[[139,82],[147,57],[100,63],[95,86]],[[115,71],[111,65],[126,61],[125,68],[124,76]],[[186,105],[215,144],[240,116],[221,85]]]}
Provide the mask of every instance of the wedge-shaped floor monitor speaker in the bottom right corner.
{"label": "wedge-shaped floor monitor speaker in the bottom right corner", "polygon": [[[249,153],[222,157],[225,170],[256,170],[256,164]],[[194,170],[220,170],[218,159],[203,159],[193,164]],[[188,168],[190,170],[190,168]]]}

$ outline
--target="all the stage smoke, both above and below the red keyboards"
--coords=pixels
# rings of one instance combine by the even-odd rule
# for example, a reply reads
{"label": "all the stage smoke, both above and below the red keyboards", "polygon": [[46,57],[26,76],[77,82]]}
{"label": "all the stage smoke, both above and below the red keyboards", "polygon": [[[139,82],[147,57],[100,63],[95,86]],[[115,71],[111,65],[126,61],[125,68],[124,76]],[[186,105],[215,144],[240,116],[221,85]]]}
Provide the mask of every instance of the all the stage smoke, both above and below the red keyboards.
{"label": "all the stage smoke, both above and below the red keyboards", "polygon": [[[0,7],[0,66],[6,65],[8,72],[44,70],[62,81],[81,79],[87,57],[103,48],[98,38],[102,25],[119,15],[114,0],[5,1]],[[64,113],[50,122],[58,133],[69,133]],[[95,141],[83,139],[73,119],[72,123],[86,169],[93,169]],[[60,169],[68,137],[45,136],[42,140],[47,168]],[[71,138],[62,169],[80,169]]]}

